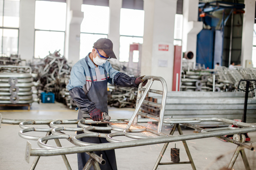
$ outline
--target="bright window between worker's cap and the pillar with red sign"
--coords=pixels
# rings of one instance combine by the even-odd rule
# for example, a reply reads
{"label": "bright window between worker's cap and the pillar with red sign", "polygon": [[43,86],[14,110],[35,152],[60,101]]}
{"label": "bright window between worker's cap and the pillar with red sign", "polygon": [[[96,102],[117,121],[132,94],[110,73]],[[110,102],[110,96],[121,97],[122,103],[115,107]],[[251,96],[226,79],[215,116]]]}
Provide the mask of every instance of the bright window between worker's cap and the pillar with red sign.
{"label": "bright window between worker's cap and the pillar with red sign", "polygon": [[143,43],[144,11],[121,8],[119,62],[129,62],[130,44]]}

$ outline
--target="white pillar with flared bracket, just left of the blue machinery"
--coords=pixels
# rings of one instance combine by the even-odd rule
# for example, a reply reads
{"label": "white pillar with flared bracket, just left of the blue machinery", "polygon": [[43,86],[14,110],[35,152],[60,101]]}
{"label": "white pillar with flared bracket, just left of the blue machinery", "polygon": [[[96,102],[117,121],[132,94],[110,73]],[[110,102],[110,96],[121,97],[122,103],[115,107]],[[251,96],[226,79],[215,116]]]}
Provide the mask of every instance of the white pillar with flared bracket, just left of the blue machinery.
{"label": "white pillar with flared bracket, just left of the blue machinery", "polygon": [[196,61],[197,34],[203,29],[203,22],[198,22],[199,0],[183,0],[183,35],[182,52],[192,51]]}

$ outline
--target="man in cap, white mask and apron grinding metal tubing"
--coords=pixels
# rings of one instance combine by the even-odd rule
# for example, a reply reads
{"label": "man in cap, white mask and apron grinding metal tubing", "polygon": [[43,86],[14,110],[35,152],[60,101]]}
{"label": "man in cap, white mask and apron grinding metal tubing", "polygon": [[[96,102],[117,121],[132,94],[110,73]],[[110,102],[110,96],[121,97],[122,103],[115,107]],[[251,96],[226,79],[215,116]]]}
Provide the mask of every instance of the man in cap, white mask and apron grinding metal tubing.
{"label": "man in cap, white mask and apron grinding metal tubing", "polygon": [[[116,59],[113,52],[113,43],[107,38],[101,38],[94,43],[93,50],[85,58],[80,59],[72,67],[67,89],[70,96],[79,108],[78,119],[90,117],[93,121],[102,120],[102,112],[108,113],[107,85],[116,84],[121,87],[138,87],[147,83],[143,77],[130,77],[112,68],[108,59]],[[95,126],[94,124],[93,126]],[[96,126],[107,127],[107,124]],[[97,133],[111,133],[110,130],[93,130]],[[77,134],[83,132],[77,132]],[[80,139],[88,143],[107,143],[105,138],[87,137]],[[106,164],[99,164],[101,170],[117,170],[114,150],[94,152],[103,156]],[[86,153],[78,153],[78,167],[82,170],[90,158]],[[93,170],[91,167],[90,170]]]}

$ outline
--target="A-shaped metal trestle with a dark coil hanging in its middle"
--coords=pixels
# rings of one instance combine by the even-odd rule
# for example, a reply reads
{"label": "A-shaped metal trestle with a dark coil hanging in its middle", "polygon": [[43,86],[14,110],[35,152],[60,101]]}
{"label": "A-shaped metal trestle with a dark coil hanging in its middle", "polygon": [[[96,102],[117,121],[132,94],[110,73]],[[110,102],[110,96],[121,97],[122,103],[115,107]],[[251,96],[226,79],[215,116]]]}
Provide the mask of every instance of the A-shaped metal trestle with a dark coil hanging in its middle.
{"label": "A-shaped metal trestle with a dark coil hanging in its middle", "polygon": [[[177,129],[178,129],[180,135],[183,135],[182,130],[181,130],[181,127],[180,127],[180,124],[174,124],[174,126],[172,127],[172,130],[171,130],[171,132],[170,132],[170,135],[173,135],[173,133],[174,133],[175,130],[176,130],[176,127],[177,127]],[[189,157],[189,161],[185,161],[185,162],[166,162],[166,163],[160,163],[160,161],[161,161],[161,159],[162,159],[162,157],[163,157],[163,154],[165,153],[166,148],[168,147],[168,144],[169,144],[169,143],[165,143],[164,146],[163,146],[162,151],[160,152],[160,155],[159,155],[158,158],[157,158],[157,162],[155,163],[155,165],[154,165],[154,167],[153,167],[153,170],[156,170],[157,167],[158,167],[158,165],[169,165],[169,164],[191,164],[192,169],[193,169],[193,170],[196,170],[194,161],[193,161],[192,156],[191,156],[191,154],[190,154],[190,152],[189,152],[189,147],[188,147],[188,145],[186,144],[186,141],[182,141],[182,143],[183,143],[183,145],[184,145],[184,147],[185,147],[185,150],[186,150],[186,153],[187,153],[187,155],[188,155],[188,157]]]}

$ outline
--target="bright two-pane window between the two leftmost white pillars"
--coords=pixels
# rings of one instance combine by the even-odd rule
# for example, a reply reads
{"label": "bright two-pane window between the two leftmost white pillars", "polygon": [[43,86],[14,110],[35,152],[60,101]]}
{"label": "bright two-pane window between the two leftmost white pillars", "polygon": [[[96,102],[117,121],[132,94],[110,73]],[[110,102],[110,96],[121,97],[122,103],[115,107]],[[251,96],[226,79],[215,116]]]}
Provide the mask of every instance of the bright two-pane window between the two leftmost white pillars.
{"label": "bright two-pane window between the two leftmost white pillars", "polygon": [[64,54],[67,4],[35,1],[35,58],[44,58],[55,50]]}

